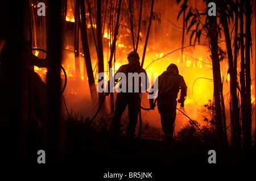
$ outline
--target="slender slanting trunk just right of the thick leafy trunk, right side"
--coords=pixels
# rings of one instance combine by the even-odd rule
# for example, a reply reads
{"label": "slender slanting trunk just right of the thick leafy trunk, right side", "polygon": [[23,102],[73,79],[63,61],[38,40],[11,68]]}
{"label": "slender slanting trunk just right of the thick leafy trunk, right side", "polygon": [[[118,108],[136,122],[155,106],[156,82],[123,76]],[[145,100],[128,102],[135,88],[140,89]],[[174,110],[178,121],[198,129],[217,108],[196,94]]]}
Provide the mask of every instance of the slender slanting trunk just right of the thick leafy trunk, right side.
{"label": "slender slanting trunk just right of the thick leafy trunk, right side", "polygon": [[[223,7],[225,5],[221,5]],[[232,101],[232,112],[230,115],[230,121],[232,121],[233,136],[234,136],[234,149],[238,157],[241,154],[241,123],[240,123],[240,114],[238,110],[238,99],[237,99],[237,79],[234,71],[234,62],[233,54],[231,47],[231,40],[229,34],[229,26],[224,10],[221,8],[221,17],[220,22],[224,29],[224,35],[226,40],[226,50],[228,53],[228,63],[229,63],[229,75],[230,75],[230,99]]]}

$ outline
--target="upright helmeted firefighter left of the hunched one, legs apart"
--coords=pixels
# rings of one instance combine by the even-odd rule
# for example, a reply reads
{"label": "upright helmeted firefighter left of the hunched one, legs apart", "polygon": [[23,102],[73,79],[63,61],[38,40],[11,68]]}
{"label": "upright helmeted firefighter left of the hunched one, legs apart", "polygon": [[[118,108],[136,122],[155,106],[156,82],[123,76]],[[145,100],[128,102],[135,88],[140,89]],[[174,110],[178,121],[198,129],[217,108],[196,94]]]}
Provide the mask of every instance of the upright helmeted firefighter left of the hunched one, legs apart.
{"label": "upright helmeted firefighter left of the hunched one, legs apart", "polygon": [[[121,122],[122,113],[125,111],[126,106],[128,106],[129,123],[127,125],[126,136],[127,138],[134,138],[134,133],[137,126],[138,113],[139,113],[139,109],[141,108],[141,100],[140,100],[141,98],[139,94],[142,91],[141,87],[145,86],[147,89],[149,86],[149,83],[148,83],[146,70],[144,70],[140,66],[139,54],[137,52],[132,51],[127,55],[127,60],[129,63],[126,65],[122,65],[115,73],[115,74],[124,73],[126,75],[126,92],[118,92],[117,94],[117,99],[115,100],[115,113],[109,129],[110,129],[110,132],[112,132],[115,136],[119,136],[119,134],[121,133],[120,122]],[[129,73],[138,73],[138,74],[143,73],[144,74],[143,78],[145,78],[145,80],[142,81],[141,77],[135,77],[131,83],[129,79]],[[117,81],[118,79],[115,79],[115,82]],[[135,85],[135,82],[137,81],[139,82],[138,92],[135,91],[135,86],[137,86]],[[143,82],[146,85],[143,85]],[[129,90],[133,90],[133,91],[129,91]]]}

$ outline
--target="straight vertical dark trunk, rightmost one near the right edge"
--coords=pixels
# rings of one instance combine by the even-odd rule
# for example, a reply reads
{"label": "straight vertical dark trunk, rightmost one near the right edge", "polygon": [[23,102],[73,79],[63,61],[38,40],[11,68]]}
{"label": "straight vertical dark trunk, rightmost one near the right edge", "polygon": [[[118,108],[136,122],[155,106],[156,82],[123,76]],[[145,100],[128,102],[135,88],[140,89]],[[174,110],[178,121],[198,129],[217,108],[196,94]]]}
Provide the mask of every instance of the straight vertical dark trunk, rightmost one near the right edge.
{"label": "straight vertical dark trunk, rightmost one near the right edge", "polygon": [[245,76],[246,76],[246,125],[245,125],[245,151],[251,149],[251,70],[250,70],[250,47],[251,47],[251,4],[250,0],[245,1]]}

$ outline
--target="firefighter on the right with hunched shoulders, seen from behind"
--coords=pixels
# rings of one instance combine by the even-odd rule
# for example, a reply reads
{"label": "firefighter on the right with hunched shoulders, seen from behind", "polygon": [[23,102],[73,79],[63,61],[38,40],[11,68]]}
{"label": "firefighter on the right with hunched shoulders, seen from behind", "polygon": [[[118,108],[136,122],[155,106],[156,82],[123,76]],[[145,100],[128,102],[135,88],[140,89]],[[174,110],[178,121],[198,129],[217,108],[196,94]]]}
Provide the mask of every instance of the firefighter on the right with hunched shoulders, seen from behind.
{"label": "firefighter on the right with hunched shoulders, seen from behind", "polygon": [[[169,65],[167,70],[159,75],[156,81],[158,81],[158,112],[160,113],[164,140],[167,144],[170,144],[174,134],[177,94],[181,89],[178,102],[181,107],[184,107],[184,100],[187,96],[187,86],[175,64]],[[155,108],[154,99],[150,99],[150,108]]]}

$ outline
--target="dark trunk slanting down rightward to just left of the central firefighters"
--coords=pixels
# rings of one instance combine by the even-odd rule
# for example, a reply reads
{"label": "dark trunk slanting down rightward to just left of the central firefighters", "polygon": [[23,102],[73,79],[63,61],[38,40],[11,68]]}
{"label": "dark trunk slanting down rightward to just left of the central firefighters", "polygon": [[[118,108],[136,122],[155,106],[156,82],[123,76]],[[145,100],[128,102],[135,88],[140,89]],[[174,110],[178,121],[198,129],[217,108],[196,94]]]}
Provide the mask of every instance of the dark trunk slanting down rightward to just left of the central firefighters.
{"label": "dark trunk slanting down rightward to just left of the central firefighters", "polygon": [[84,50],[84,58],[85,58],[89,89],[90,89],[90,96],[93,102],[95,99],[97,99],[97,91],[96,91],[95,81],[93,77],[92,61],[90,59],[90,49],[89,49],[87,30],[86,30],[87,25],[86,25],[86,17],[85,17],[84,0],[80,0],[79,5],[81,10],[81,19],[79,16],[79,19],[80,19],[79,22],[80,22],[80,29],[81,29],[80,32],[81,32],[81,39],[82,39],[82,49]]}

